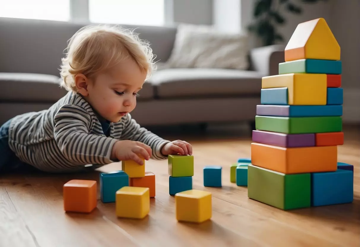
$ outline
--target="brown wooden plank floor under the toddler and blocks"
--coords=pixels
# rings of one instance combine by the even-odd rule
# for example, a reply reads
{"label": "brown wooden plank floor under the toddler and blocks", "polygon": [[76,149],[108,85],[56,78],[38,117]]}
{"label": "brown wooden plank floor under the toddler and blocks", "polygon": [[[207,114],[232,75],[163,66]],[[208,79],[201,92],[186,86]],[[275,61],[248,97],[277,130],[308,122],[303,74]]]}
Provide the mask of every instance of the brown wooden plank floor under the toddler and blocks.
{"label": "brown wooden plank floor under the toddler and blocks", "polygon": [[[354,168],[351,204],[282,211],[247,197],[230,183],[229,165],[250,156],[250,135],[242,130],[177,133],[194,149],[193,188],[212,193],[213,215],[202,224],[178,223],[168,194],[167,161],[148,161],[156,174],[156,198],[143,220],[118,219],[115,204],[90,214],[63,211],[62,185],[70,179],[99,181],[99,173],[50,175],[22,172],[0,176],[0,246],[360,246],[360,132],[345,129],[338,161]],[[168,131],[171,133],[172,130]],[[166,135],[165,133],[164,135]],[[172,139],[170,136],[165,136]],[[222,188],[203,187],[202,168],[221,165]],[[102,171],[120,170],[117,163]]]}

